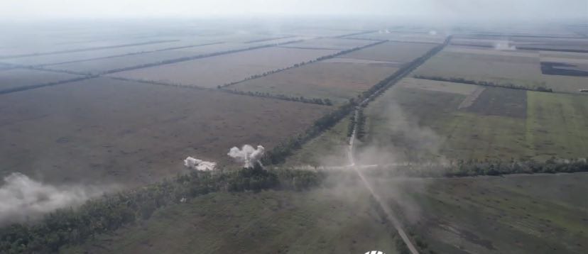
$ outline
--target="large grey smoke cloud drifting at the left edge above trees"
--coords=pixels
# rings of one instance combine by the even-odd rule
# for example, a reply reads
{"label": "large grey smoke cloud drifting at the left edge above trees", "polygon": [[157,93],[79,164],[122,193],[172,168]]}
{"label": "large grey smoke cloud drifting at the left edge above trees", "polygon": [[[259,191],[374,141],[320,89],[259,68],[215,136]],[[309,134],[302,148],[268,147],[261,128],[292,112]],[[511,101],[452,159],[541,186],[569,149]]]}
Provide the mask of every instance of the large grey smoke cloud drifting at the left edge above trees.
{"label": "large grey smoke cloud drifting at the left edge above trees", "polygon": [[55,209],[80,205],[103,194],[104,189],[107,188],[43,184],[12,173],[4,177],[0,186],[0,224],[30,221]]}

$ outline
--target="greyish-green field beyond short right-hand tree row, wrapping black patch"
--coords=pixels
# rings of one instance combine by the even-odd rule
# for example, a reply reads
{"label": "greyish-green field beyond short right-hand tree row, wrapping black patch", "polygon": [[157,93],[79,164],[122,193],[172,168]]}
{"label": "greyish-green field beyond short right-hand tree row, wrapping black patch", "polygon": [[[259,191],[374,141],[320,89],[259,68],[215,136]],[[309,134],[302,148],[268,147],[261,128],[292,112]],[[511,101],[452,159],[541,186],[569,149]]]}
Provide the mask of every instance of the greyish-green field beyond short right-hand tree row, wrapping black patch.
{"label": "greyish-green field beyond short right-hand tree row, wrapping black patch", "polygon": [[465,49],[449,47],[425,65],[415,74],[430,77],[463,78],[475,81],[512,83],[518,86],[547,87],[555,92],[577,93],[587,88],[588,77],[571,77],[547,75],[541,72],[538,53],[521,53],[510,51]]}

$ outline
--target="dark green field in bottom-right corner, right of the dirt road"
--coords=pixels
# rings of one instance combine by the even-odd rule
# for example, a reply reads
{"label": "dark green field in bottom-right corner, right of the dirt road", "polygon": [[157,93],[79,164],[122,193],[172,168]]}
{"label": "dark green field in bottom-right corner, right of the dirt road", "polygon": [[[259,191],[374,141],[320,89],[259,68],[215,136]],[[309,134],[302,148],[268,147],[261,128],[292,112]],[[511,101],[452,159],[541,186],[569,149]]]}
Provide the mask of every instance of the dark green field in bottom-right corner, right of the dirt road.
{"label": "dark green field in bottom-right corner, right of the dirt road", "polygon": [[398,203],[412,207],[409,227],[436,253],[583,253],[587,180],[579,173],[384,183],[399,185],[407,200]]}

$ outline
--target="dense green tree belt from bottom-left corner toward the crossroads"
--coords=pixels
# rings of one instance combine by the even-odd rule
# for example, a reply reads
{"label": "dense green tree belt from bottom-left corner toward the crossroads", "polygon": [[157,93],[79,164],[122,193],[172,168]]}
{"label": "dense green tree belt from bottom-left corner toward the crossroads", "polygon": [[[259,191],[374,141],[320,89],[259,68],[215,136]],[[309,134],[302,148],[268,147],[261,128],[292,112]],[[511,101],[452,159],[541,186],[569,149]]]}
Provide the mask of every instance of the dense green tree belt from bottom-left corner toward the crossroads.
{"label": "dense green tree belt from bottom-left corner toward the crossroads", "polygon": [[307,189],[324,175],[309,171],[267,171],[261,166],[222,172],[192,172],[140,189],[87,201],[77,209],[60,209],[32,224],[0,228],[0,253],[55,253],[99,233],[148,219],[157,209],[210,192],[261,189]]}

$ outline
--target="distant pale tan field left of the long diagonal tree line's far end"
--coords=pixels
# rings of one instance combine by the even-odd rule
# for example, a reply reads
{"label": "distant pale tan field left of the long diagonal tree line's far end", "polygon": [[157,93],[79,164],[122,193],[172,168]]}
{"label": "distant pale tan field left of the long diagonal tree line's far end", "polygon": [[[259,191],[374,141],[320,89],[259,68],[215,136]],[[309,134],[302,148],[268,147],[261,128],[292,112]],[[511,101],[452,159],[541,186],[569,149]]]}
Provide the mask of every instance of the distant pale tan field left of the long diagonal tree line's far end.
{"label": "distant pale tan field left of the long diagonal tree line's far end", "polygon": [[388,42],[357,50],[341,57],[388,62],[411,62],[415,58],[425,55],[435,46],[435,44],[428,43]]}

